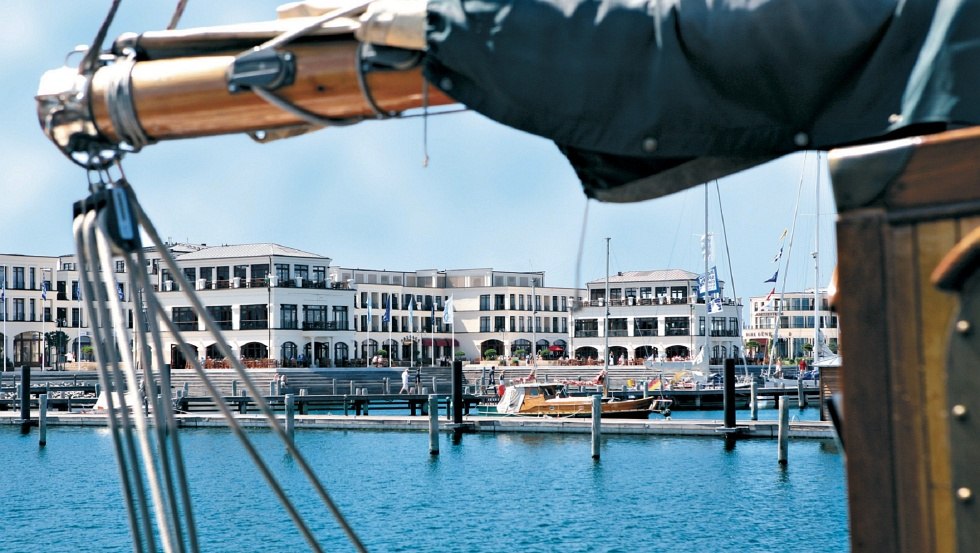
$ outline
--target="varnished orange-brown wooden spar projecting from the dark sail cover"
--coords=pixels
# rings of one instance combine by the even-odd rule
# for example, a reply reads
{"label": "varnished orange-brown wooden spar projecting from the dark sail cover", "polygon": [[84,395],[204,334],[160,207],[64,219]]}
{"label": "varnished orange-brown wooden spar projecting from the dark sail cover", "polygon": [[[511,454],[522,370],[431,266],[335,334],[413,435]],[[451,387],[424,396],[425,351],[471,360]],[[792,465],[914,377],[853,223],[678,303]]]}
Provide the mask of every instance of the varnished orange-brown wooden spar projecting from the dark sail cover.
{"label": "varnished orange-brown wooden spar projecting from the dark sail cover", "polygon": [[[296,57],[296,78],[293,84],[275,93],[326,117],[372,116],[357,80],[358,44],[351,38],[287,47]],[[135,63],[133,102],[146,135],[157,141],[173,140],[269,130],[303,122],[251,92],[230,93],[226,72],[233,61],[234,55],[215,55]],[[106,102],[113,72],[125,67],[118,64],[99,69],[91,85],[92,118],[99,131],[114,142],[122,139],[109,117]],[[397,112],[422,106],[424,79],[419,67],[369,72],[365,80],[382,110]],[[453,101],[430,88],[428,103],[439,106]]]}

